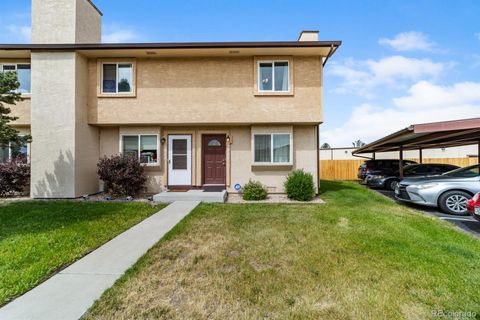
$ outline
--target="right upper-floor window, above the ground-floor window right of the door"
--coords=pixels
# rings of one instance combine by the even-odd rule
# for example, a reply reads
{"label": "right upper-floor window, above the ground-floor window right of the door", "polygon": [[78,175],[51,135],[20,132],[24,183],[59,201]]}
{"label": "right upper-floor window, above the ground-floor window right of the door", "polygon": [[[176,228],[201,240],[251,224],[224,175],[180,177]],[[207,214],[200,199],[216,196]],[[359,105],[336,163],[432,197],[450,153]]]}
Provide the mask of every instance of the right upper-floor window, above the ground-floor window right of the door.
{"label": "right upper-floor window, above the ground-floor window right of the door", "polygon": [[288,61],[258,61],[258,91],[288,92]]}

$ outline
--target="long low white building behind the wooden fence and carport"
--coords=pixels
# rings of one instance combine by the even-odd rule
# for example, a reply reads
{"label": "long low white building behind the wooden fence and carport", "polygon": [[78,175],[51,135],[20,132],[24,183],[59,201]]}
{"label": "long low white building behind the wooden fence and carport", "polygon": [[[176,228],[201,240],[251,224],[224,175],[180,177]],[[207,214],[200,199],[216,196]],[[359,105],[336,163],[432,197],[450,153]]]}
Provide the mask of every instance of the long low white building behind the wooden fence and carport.
{"label": "long low white building behind the wooden fence and carport", "polygon": [[[352,155],[352,151],[358,148],[346,147],[346,148],[328,148],[320,149],[320,160],[362,160],[360,157]],[[406,150],[403,152],[405,159],[415,159],[419,157],[418,150]],[[451,148],[435,148],[435,149],[423,149],[422,157],[424,159],[445,159],[445,158],[470,158],[477,157],[478,146],[461,146]],[[365,157],[373,157],[373,154],[362,155]],[[398,159],[398,152],[379,152],[375,154],[376,159]]]}

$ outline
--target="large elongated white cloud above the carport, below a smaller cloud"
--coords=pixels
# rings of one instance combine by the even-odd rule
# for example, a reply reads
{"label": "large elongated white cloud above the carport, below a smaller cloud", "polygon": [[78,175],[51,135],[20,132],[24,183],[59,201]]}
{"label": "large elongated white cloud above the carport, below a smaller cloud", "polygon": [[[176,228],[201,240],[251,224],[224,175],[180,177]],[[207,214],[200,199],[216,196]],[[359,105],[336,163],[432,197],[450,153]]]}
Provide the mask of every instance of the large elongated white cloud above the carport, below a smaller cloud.
{"label": "large elongated white cloud above the carport, below a smaller cloud", "polygon": [[353,92],[371,97],[375,87],[401,86],[405,85],[405,81],[435,79],[446,67],[446,64],[430,59],[395,55],[379,60],[347,59],[343,64],[332,63],[328,72],[344,79],[343,84],[335,89],[336,92]]}

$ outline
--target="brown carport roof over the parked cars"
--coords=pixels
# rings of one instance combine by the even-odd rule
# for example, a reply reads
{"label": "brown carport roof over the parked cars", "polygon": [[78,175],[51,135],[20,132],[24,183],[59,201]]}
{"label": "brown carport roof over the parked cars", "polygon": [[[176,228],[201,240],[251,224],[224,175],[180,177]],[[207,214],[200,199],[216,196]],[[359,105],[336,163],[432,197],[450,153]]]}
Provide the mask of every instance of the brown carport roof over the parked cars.
{"label": "brown carport roof over the parked cars", "polygon": [[369,143],[354,152],[447,148],[480,144],[480,118],[413,124],[403,130]]}

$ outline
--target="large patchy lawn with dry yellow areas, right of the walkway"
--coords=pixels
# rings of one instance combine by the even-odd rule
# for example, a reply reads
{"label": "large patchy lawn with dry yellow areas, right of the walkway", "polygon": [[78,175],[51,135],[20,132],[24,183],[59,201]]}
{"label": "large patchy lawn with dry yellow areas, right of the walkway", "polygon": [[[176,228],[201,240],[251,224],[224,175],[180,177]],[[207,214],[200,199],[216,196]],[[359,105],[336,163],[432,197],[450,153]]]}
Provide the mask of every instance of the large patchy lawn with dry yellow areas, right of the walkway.
{"label": "large patchy lawn with dry yellow areas, right of the walkway", "polygon": [[87,319],[428,319],[480,313],[480,242],[349,182],[324,205],[202,204]]}

